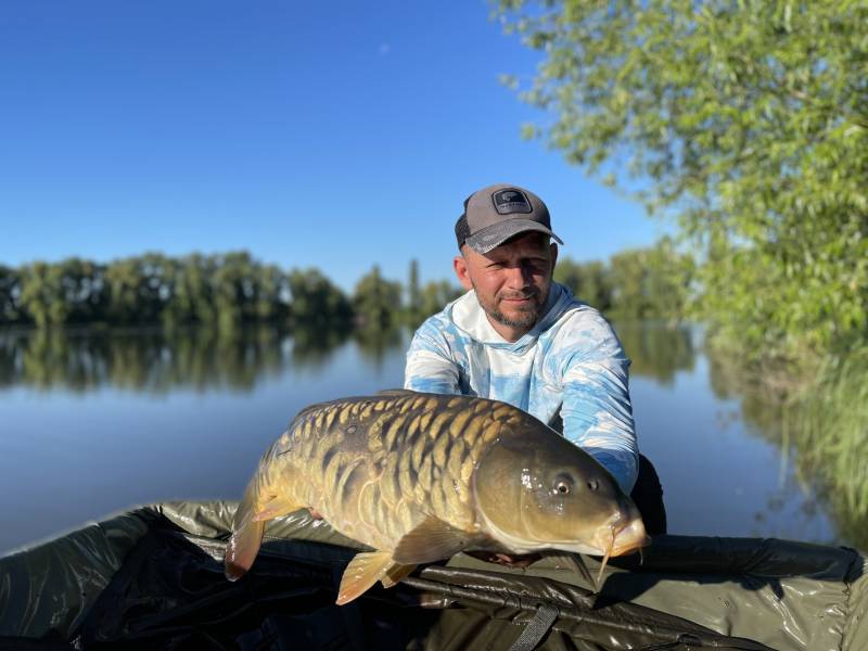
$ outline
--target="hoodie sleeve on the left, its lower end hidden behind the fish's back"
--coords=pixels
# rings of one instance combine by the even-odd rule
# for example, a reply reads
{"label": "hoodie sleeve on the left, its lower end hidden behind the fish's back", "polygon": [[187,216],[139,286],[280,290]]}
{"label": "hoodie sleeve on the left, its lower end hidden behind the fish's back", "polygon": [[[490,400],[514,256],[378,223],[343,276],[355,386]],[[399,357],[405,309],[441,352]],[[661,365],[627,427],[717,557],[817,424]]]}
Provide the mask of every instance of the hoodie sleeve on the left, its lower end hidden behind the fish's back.
{"label": "hoodie sleeve on the left, its lower end hidden behind the fish's back", "polygon": [[459,394],[458,363],[434,317],[422,323],[407,352],[404,388],[438,394]]}

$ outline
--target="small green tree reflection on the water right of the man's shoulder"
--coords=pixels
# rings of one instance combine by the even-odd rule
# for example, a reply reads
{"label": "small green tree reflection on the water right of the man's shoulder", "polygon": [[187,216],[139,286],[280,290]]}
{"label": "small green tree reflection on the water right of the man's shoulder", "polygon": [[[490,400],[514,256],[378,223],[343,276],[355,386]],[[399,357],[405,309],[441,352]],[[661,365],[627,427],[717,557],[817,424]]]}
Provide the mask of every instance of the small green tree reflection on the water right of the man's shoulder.
{"label": "small green tree reflection on the water right of the man's shoulder", "polygon": [[688,326],[630,321],[616,323],[615,331],[631,360],[630,375],[671,384],[676,371],[693,369],[695,352]]}

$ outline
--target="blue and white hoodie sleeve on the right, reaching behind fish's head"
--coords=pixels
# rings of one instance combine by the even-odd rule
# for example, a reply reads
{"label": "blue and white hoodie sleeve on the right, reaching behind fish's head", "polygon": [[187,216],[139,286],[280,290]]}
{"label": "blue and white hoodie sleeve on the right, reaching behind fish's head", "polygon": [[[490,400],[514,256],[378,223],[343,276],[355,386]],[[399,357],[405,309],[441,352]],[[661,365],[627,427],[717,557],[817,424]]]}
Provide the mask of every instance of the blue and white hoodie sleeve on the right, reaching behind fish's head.
{"label": "blue and white hoodie sleeve on the right, reaching behind fish's head", "polygon": [[628,390],[629,359],[599,315],[571,336],[563,368],[563,433],[593,456],[629,495],[639,450]]}

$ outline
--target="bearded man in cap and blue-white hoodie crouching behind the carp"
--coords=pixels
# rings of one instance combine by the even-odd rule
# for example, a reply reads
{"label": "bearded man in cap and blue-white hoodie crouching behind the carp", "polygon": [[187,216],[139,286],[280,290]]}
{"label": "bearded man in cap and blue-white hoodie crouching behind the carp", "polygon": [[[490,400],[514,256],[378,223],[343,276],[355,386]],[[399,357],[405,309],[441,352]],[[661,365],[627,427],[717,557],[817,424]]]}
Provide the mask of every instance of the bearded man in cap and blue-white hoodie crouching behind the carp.
{"label": "bearded man in cap and blue-white hoodie crouching behind the carp", "polygon": [[[484,188],[464,202],[456,237],[461,255],[455,271],[469,291],[416,332],[405,387],[524,409],[562,429],[630,494],[640,457],[629,360],[609,322],[552,282],[558,245],[550,239],[563,242],[551,230],[546,204],[515,186]],[[662,490],[641,460],[642,474],[648,468],[652,475],[650,499],[634,498],[649,533],[664,533]]]}

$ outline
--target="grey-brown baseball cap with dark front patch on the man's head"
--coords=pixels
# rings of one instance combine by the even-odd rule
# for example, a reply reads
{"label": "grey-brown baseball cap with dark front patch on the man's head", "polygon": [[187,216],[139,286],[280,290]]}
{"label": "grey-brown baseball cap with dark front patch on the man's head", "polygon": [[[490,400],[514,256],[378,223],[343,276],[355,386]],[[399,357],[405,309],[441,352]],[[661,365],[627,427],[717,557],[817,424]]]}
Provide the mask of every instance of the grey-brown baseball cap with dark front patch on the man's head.
{"label": "grey-brown baseball cap with dark front patch on the man's head", "polygon": [[455,225],[458,247],[467,244],[482,254],[525,231],[546,233],[563,244],[551,230],[549,209],[542,200],[509,183],[488,186],[468,196],[464,213]]}

